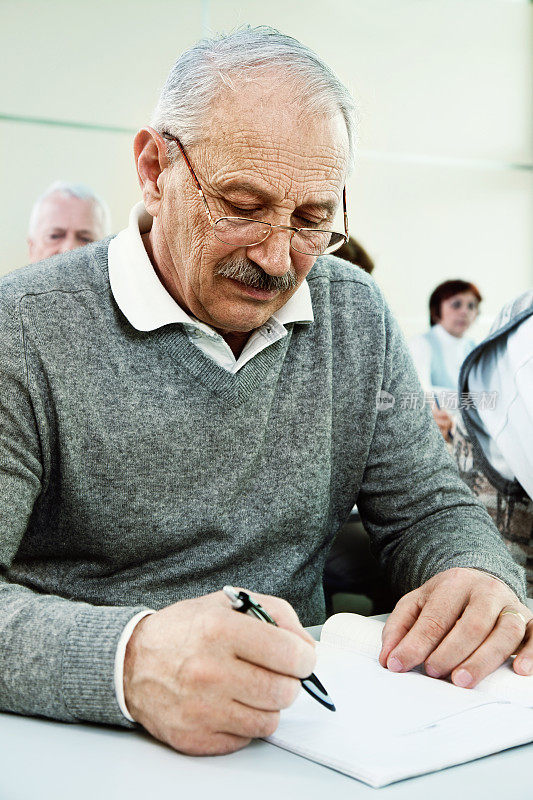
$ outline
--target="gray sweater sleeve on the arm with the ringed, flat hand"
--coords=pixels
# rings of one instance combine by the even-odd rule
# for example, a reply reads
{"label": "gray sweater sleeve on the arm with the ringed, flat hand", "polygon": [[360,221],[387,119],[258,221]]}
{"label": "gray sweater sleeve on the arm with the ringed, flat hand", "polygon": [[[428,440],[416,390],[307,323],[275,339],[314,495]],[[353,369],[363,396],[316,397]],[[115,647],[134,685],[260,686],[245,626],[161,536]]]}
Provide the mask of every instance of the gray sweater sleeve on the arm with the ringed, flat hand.
{"label": "gray sweater sleeve on the arm with the ringed, flat hand", "polygon": [[387,308],[383,324],[386,402],[376,404],[357,500],[373,549],[400,594],[451,567],[475,567],[500,578],[523,599],[524,572],[460,479]]}

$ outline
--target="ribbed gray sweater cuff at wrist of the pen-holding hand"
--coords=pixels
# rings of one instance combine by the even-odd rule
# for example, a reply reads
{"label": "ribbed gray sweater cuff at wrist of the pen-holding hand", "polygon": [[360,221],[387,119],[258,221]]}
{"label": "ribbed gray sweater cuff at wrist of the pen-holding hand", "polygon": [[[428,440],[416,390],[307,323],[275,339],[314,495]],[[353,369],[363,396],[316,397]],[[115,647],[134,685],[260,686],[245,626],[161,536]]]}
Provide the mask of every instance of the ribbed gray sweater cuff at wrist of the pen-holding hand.
{"label": "ribbed gray sweater cuff at wrist of the pen-holding hand", "polygon": [[115,658],[128,621],[146,608],[84,606],[76,615],[63,651],[61,687],[78,720],[133,727],[115,695]]}

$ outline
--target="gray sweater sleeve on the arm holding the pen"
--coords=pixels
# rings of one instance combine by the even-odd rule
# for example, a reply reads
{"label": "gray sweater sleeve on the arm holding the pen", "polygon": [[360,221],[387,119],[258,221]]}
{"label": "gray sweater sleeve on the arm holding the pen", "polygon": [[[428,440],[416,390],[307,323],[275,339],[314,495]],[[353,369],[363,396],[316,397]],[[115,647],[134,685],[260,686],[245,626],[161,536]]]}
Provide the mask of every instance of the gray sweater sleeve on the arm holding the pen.
{"label": "gray sweater sleeve on the arm holding the pen", "polygon": [[0,708],[131,726],[116,700],[114,662],[124,626],[142,609],[93,606],[9,578],[45,478],[17,309],[3,309],[0,341]]}

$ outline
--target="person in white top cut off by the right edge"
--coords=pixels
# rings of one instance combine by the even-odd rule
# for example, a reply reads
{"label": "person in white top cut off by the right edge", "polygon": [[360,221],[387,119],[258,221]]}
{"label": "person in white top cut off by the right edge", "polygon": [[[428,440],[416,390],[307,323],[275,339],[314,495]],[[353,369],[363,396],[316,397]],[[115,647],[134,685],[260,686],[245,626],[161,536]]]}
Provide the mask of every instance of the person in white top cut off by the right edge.
{"label": "person in white top cut off by the right edge", "polygon": [[467,357],[454,456],[483,500],[533,596],[533,290],[506,305]]}

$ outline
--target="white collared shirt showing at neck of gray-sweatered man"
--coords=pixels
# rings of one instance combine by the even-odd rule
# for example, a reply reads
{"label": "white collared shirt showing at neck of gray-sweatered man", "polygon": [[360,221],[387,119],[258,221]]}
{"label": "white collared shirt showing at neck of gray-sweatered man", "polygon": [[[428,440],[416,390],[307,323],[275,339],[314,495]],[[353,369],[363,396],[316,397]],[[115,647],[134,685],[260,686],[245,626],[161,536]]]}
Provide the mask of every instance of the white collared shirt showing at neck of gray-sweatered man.
{"label": "white collared shirt showing at neck of gray-sweatered man", "polygon": [[223,337],[181,308],[159,280],[141,238],[152,226],[143,203],[130,213],[129,225],[109,243],[109,280],[118,307],[138,331],[152,331],[163,325],[181,323],[205,355],[228,372],[236,373],[261,350],[287,335],[291,322],[313,322],[313,306],[307,281],[298,287],[284,306],[255,330],[241,354],[235,358]]}

